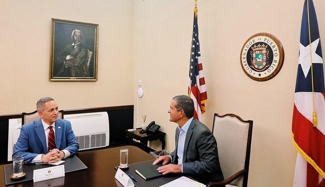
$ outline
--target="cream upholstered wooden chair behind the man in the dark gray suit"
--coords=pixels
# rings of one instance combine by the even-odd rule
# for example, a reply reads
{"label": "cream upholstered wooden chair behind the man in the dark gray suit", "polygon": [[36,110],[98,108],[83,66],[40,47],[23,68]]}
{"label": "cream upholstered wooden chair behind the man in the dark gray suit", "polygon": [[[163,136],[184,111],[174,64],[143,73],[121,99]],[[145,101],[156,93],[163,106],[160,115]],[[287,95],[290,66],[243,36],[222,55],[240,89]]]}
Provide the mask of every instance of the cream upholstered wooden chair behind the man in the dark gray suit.
{"label": "cream upholstered wooden chair behind the man in the dark gray suit", "polygon": [[212,133],[225,180],[210,182],[207,187],[247,187],[253,121],[234,114],[214,114]]}

